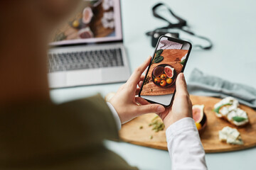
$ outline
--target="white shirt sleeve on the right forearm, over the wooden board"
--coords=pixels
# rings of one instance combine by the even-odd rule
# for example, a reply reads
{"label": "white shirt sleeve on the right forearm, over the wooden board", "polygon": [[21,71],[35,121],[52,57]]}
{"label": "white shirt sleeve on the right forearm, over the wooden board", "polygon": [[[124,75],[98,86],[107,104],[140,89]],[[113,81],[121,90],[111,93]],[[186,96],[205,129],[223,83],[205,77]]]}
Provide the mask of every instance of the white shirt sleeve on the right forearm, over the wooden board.
{"label": "white shirt sleeve on the right forearm, over the wooden board", "polygon": [[172,170],[207,169],[203,145],[192,118],[183,118],[170,125],[166,141]]}

